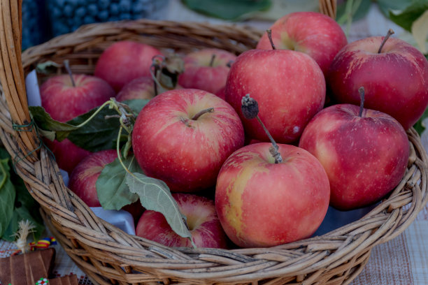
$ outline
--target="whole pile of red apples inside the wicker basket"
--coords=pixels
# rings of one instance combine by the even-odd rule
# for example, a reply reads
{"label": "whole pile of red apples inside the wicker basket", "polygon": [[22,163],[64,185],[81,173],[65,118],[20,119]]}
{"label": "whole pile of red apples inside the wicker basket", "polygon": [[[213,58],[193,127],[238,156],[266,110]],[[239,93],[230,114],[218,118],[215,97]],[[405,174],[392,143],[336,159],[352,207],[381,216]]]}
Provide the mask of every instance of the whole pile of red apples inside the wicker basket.
{"label": "whole pile of red apples inside the wicker basket", "polygon": [[[101,54],[94,76],[46,81],[42,103],[65,122],[110,97],[150,99],[136,118],[132,153],[173,192],[194,244],[272,247],[313,235],[329,205],[376,203],[404,176],[406,130],[428,105],[428,61],[390,34],[348,44],[331,18],[291,13],[254,50],[184,54],[166,89],[153,63],[167,57],[121,41]],[[94,184],[115,150],[78,156],[66,143],[50,147],[72,172],[71,190],[99,205]],[[162,214],[134,212],[137,235],[190,246]]]}

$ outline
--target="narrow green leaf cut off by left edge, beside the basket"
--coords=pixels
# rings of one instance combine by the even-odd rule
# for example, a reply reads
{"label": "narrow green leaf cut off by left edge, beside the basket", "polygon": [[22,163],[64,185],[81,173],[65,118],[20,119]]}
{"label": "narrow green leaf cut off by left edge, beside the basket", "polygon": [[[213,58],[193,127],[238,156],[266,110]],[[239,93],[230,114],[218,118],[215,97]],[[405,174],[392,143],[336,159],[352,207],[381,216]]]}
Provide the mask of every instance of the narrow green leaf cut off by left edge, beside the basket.
{"label": "narrow green leaf cut off by left edge, beside the basket", "polygon": [[0,159],[0,238],[3,237],[6,227],[13,216],[15,203],[15,188],[10,181],[9,159]]}

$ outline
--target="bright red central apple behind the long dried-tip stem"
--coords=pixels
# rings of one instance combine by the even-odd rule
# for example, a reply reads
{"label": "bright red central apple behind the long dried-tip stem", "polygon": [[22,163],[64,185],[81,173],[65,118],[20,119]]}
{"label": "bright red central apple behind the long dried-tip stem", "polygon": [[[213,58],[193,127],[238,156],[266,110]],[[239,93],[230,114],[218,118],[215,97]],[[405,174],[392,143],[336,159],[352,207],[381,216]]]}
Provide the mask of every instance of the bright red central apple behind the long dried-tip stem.
{"label": "bright red central apple behind the long dried-tip stem", "polygon": [[243,120],[250,138],[268,141],[256,119],[246,120],[241,99],[250,94],[260,105],[259,117],[276,142],[297,140],[325,100],[324,75],[307,54],[294,50],[249,50],[232,64],[226,101]]}

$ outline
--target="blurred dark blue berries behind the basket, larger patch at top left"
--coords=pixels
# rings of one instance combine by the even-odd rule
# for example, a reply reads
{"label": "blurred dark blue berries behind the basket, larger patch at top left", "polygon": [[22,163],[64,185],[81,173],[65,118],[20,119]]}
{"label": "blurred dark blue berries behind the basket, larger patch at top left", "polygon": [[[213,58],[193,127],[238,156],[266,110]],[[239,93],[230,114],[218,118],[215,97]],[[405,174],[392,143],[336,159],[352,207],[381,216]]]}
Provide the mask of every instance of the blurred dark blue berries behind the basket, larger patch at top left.
{"label": "blurred dark blue berries behind the basket, larger patch at top left", "polygon": [[[31,1],[31,0],[27,0]],[[83,24],[140,18],[158,19],[168,0],[46,0],[53,36]]]}

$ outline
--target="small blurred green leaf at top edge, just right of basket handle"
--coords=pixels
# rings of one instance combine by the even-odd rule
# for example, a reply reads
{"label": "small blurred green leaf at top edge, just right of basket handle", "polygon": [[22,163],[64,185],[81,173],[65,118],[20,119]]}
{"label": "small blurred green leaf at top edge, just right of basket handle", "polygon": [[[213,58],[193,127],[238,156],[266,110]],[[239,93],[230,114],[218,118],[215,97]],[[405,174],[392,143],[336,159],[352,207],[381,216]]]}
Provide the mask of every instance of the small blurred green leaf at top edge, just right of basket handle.
{"label": "small blurred green leaf at top edge, just right of basket handle", "polygon": [[348,0],[342,2],[337,6],[336,21],[338,24],[345,24],[348,20],[351,22],[361,20],[369,13],[370,6],[371,0]]}

